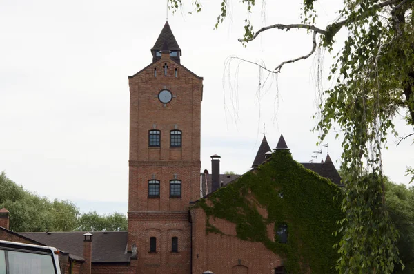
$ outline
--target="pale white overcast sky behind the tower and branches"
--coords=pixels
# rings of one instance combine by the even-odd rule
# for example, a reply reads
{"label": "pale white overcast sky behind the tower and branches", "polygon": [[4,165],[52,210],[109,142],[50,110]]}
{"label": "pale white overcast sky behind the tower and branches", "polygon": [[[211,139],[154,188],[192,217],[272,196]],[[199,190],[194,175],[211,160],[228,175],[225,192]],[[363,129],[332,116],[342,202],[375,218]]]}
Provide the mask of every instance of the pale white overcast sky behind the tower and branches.
{"label": "pale white overcast sky behind the tower and branches", "polygon": [[[213,27],[219,1],[202,1],[203,11],[193,15],[187,14],[191,6],[185,2],[183,12],[170,14],[168,22],[183,52],[181,63],[204,77],[201,171],[211,169],[213,154],[221,156],[221,171],[250,169],[264,122],[270,147],[284,134],[295,160],[311,160],[320,149],[311,132],[317,123],[312,119],[317,110],[315,59],[286,65],[277,85],[259,96],[257,67],[240,65],[237,78],[233,63],[230,73],[224,73],[232,55],[262,59],[273,68],[306,54],[311,36],[303,30],[269,30],[243,48],[237,38],[246,12],[239,1],[231,1],[230,16],[218,30]],[[335,19],[340,2],[317,1],[316,25]],[[126,213],[128,75],[151,63],[150,48],[166,21],[166,0],[0,3],[0,171],[41,196],[72,200],[81,211]],[[259,4],[252,15],[255,30],[299,22],[300,3],[266,1],[266,21]],[[326,71],[331,60],[324,55]],[[237,90],[223,84],[229,79]],[[329,85],[324,81],[324,87]],[[400,134],[412,131],[398,120],[397,129]],[[342,148],[334,136],[327,142],[339,168]],[[399,147],[394,142],[390,138],[384,152],[384,171],[391,180],[407,183],[404,171],[414,160],[411,141]]]}

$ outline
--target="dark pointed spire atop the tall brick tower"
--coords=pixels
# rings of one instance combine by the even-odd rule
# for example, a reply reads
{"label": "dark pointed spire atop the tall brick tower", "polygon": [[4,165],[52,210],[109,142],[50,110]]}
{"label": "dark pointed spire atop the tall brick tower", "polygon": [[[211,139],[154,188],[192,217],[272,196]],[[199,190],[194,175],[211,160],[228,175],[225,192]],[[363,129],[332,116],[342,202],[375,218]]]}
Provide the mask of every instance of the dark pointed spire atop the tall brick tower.
{"label": "dark pointed spire atop the tall brick tower", "polygon": [[172,34],[172,30],[170,28],[170,24],[168,24],[168,21],[166,21],[164,28],[162,28],[157,41],[151,49],[153,62],[161,58],[161,50],[170,50],[170,56],[179,63],[181,48],[179,48],[177,40],[175,40],[174,34]]}

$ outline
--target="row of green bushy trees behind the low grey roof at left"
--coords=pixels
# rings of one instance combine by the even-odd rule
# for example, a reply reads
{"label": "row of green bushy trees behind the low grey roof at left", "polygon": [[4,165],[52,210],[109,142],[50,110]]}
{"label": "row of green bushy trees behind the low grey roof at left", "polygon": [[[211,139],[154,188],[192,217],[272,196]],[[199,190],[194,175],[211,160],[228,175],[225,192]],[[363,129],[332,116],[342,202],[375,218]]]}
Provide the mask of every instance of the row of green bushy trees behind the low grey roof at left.
{"label": "row of green bushy trees behind the low grey roof at left", "polygon": [[48,200],[30,193],[0,173],[0,209],[10,211],[10,229],[16,232],[40,231],[126,231],[126,215],[80,215],[68,200]]}

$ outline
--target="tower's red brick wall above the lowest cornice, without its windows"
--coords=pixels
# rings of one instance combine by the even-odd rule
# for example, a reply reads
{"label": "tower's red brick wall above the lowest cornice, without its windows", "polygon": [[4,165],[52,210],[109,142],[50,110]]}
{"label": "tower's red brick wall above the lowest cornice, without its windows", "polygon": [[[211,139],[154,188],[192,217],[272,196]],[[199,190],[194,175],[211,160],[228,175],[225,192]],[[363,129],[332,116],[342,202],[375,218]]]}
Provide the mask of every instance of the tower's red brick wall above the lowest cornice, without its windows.
{"label": "tower's red brick wall above the lowest cornice, without its windows", "polygon": [[[164,76],[163,65],[168,65]],[[157,68],[157,77],[154,76]],[[178,76],[175,77],[175,69]],[[170,60],[168,54],[129,80],[129,211],[186,211],[199,198],[202,79]],[[164,107],[157,98],[168,89]],[[170,148],[170,130],[182,131],[182,147]],[[148,131],[161,131],[161,147],[148,147]],[[170,180],[181,180],[181,198],[170,198]],[[148,180],[160,181],[160,198],[148,198]]]}

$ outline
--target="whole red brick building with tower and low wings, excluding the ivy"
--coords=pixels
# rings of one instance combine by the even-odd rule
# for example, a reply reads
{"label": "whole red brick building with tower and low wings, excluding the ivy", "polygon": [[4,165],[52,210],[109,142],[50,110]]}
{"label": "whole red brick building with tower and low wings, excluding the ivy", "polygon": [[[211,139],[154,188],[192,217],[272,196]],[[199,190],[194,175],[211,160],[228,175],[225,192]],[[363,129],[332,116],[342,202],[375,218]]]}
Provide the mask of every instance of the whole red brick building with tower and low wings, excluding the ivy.
{"label": "whole red brick building with tower and low wings, excluding the ivy", "polygon": [[[88,240],[85,232],[14,233],[8,211],[1,209],[0,239],[61,249],[63,273],[284,273],[282,256],[261,242],[237,238],[228,220],[208,220],[191,207],[239,175],[220,174],[217,155],[212,173],[200,175],[203,78],[181,65],[168,22],[150,52],[152,63],[128,77],[128,231],[92,232]],[[283,136],[277,149],[288,149]],[[249,172],[259,173],[271,151],[264,137]],[[304,166],[339,184],[329,156]],[[224,232],[207,233],[207,220]]]}

